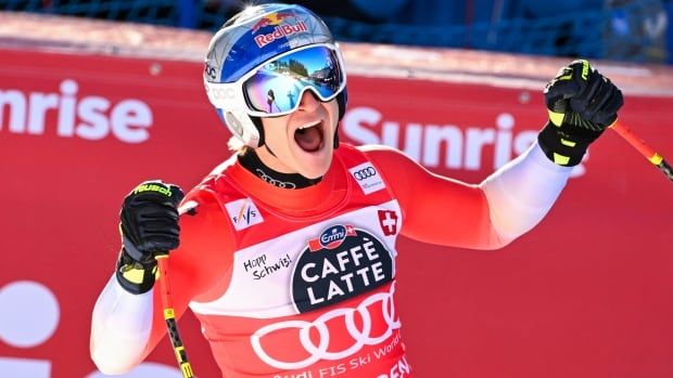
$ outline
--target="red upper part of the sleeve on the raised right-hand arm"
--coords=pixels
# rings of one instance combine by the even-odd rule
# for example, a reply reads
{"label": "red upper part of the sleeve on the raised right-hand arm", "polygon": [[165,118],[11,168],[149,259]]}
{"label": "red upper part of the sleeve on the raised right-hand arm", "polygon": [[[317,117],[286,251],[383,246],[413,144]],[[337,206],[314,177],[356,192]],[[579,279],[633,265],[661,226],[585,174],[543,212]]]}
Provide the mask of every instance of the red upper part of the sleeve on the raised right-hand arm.
{"label": "red upper part of the sleeve on the raised right-hand arm", "polygon": [[402,208],[402,234],[442,246],[500,247],[488,216],[488,203],[478,185],[431,173],[397,149],[364,147],[381,170]]}

